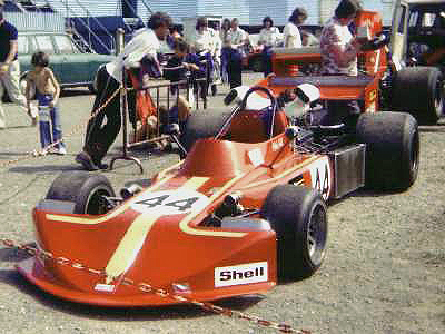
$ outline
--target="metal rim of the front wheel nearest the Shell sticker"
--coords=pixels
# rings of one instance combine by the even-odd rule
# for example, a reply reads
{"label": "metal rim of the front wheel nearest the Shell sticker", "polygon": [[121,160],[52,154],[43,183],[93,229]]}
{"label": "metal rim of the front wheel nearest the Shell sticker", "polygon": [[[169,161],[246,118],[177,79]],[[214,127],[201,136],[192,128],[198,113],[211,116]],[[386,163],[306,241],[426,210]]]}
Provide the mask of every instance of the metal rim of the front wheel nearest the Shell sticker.
{"label": "metal rim of the front wheel nearest the Shell sticker", "polygon": [[323,256],[325,254],[326,235],[326,208],[323,204],[317,204],[310,213],[306,235],[309,258],[317,266],[322,263]]}

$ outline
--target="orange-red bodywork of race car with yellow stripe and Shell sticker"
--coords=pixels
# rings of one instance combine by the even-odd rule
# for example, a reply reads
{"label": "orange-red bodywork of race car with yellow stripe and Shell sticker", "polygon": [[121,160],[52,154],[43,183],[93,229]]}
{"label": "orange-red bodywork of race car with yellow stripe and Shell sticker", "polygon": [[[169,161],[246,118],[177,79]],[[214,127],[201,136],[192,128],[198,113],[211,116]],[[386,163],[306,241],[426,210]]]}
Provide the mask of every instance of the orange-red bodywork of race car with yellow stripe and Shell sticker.
{"label": "orange-red bodywork of race car with yellow stripe and Shell sticker", "polygon": [[[41,249],[106,275],[37,257],[18,269],[51,294],[108,306],[178,303],[125,285],[123,277],[198,301],[264,293],[277,281],[275,232],[206,227],[202,222],[235,191],[244,207],[259,209],[276,185],[314,187],[318,169],[332,185],[329,164],[326,156],[294,153],[283,132],[257,144],[200,139],[184,161],[106,215],[34,208]],[[174,284],[187,288],[177,292]]]}

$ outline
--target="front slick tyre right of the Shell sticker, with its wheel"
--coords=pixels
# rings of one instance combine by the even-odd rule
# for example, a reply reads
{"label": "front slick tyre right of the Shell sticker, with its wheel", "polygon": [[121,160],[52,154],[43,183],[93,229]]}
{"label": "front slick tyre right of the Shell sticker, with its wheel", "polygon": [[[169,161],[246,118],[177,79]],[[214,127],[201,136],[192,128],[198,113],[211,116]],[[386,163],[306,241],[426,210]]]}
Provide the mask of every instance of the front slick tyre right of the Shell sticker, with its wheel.
{"label": "front slick tyre right of the Shell sticker, with its wheel", "polygon": [[261,216],[277,234],[278,279],[313,275],[325,257],[326,204],[314,189],[280,185],[267,194]]}

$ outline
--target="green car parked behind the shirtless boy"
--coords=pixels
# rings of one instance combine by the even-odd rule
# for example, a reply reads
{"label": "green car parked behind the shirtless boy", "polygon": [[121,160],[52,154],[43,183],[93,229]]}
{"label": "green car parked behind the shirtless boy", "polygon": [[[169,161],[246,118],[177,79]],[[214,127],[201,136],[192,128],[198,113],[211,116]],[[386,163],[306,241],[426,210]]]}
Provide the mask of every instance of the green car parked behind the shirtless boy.
{"label": "green car parked behind the shirtless boy", "polygon": [[31,57],[36,51],[49,55],[49,67],[61,88],[87,86],[93,92],[92,82],[98,68],[115,56],[83,52],[63,32],[19,32],[19,61],[22,78],[31,69]]}

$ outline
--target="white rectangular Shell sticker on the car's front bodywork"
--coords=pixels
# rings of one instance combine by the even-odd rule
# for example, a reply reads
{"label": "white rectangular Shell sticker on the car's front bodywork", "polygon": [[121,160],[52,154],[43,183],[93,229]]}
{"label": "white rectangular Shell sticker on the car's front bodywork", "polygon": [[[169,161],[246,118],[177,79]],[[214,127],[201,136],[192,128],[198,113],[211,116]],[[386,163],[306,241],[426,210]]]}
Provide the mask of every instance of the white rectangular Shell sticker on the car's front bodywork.
{"label": "white rectangular Shell sticker on the car's front bodywork", "polygon": [[215,268],[215,287],[267,282],[267,262]]}

